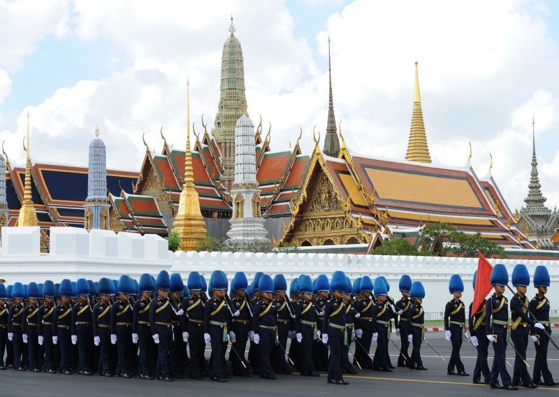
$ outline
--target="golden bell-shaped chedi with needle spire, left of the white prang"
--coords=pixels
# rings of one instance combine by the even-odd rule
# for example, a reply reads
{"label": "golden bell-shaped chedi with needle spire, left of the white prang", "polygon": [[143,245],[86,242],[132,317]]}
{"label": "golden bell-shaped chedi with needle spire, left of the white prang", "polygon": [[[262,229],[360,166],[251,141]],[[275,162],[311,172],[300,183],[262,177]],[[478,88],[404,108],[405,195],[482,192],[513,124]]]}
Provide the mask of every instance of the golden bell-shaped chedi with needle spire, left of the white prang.
{"label": "golden bell-shaped chedi with needle spire, left of the white prang", "polygon": [[187,152],[184,155],[184,180],[180,193],[179,208],[173,231],[180,237],[182,251],[194,250],[196,242],[208,233],[205,229],[204,218],[200,210],[198,192],[194,189],[194,171],[192,169],[192,154],[190,152],[190,88],[187,82]]}

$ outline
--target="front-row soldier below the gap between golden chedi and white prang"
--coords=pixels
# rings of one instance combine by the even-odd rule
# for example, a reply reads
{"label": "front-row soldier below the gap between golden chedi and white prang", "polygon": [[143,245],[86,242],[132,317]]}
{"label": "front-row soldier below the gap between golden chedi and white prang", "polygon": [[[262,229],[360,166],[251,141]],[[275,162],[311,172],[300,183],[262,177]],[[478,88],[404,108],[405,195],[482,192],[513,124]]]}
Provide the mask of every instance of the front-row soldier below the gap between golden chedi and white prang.
{"label": "front-row soldier below the gap between golden chedi and white prang", "polygon": [[215,270],[210,277],[210,290],[213,297],[204,306],[204,340],[212,344],[210,358],[210,380],[227,382],[225,379],[225,351],[227,341],[235,343],[235,333],[231,329],[231,311],[228,307],[225,294],[227,291],[227,276],[221,270]]}

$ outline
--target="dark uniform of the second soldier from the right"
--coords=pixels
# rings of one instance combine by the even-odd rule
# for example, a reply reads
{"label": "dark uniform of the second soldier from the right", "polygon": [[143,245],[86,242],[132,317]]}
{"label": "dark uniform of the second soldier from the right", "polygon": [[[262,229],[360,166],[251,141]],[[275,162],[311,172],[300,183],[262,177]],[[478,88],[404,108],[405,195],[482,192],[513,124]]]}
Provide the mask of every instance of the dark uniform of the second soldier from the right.
{"label": "dark uniform of the second soldier from the right", "polygon": [[514,370],[512,373],[512,384],[532,384],[532,377],[528,373],[528,368],[524,363],[526,359],[526,349],[528,349],[528,337],[530,335],[530,327],[536,322],[528,314],[527,296],[520,298],[514,295],[511,298],[511,340],[516,348],[514,357]]}

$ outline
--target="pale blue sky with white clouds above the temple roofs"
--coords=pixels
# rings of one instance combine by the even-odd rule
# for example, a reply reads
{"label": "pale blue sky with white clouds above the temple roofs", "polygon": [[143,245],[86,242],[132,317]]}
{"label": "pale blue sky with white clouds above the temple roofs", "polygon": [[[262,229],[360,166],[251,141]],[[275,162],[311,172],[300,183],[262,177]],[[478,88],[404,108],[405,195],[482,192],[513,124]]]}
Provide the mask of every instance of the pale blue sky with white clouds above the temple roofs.
{"label": "pale blue sky with white clouds above the temple roofs", "polygon": [[142,136],[184,147],[186,82],[196,133],[212,127],[233,15],[249,115],[272,150],[326,130],[328,36],[334,107],[349,150],[402,160],[414,62],[433,164],[471,164],[512,210],[528,193],[532,117],[546,205],[559,204],[559,2],[555,0],[0,0],[0,142],[23,164],[87,166],[97,126],[108,167],[139,171]]}

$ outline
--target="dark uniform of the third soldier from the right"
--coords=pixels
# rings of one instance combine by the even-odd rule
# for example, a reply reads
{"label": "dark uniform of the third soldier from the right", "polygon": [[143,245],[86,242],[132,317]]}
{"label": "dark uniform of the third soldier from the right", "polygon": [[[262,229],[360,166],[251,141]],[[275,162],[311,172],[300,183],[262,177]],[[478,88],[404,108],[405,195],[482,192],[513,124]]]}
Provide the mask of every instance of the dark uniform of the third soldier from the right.
{"label": "dark uniform of the third soldier from the right", "polygon": [[490,386],[499,384],[498,377],[501,375],[502,386],[511,385],[511,377],[505,366],[505,357],[507,354],[507,340],[509,338],[509,301],[505,296],[493,294],[486,302],[486,332],[495,335],[496,340],[493,342],[493,366],[491,367],[491,375],[489,378]]}

